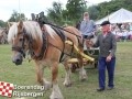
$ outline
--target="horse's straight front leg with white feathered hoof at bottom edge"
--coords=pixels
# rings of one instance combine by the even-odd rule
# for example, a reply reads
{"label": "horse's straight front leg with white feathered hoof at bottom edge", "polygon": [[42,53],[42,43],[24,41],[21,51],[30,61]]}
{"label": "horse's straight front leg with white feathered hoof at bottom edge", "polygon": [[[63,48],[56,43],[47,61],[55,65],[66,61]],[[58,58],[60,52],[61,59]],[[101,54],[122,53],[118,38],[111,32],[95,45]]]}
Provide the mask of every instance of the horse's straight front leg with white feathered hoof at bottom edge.
{"label": "horse's straight front leg with white feathered hoof at bottom edge", "polygon": [[58,63],[54,63],[51,67],[52,69],[52,84],[53,84],[53,91],[51,95],[51,99],[64,99],[63,95],[59,90],[58,84],[57,84],[57,75],[58,75]]}

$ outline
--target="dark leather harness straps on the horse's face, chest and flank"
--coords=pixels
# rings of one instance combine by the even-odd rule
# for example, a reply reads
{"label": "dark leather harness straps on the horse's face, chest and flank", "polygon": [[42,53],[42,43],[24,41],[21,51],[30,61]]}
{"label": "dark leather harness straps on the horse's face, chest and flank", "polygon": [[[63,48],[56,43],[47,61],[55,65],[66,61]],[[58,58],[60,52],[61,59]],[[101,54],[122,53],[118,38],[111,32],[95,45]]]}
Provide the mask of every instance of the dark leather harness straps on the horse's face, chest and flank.
{"label": "dark leather harness straps on the horse's face, chest and flank", "polygon": [[[66,40],[69,40],[69,38],[66,37],[66,35],[64,34],[64,31],[62,31],[61,29],[57,29],[57,28],[54,28],[54,26],[51,26],[51,28],[57,33],[57,35],[61,37],[62,42],[64,43],[63,51],[59,50],[57,46],[51,44],[51,43],[48,42],[47,33],[43,33],[43,35],[42,35],[42,36],[43,36],[43,37],[42,37],[42,38],[43,38],[43,45],[42,45],[42,48],[41,48],[41,53],[40,53],[38,55],[35,55],[35,53],[34,53],[34,51],[33,51],[33,45],[32,45],[33,38],[32,38],[31,35],[28,35],[25,29],[23,29],[22,46],[21,46],[21,47],[20,47],[20,46],[12,46],[12,51],[18,51],[18,52],[20,52],[20,53],[23,55],[23,57],[25,57],[24,42],[25,42],[25,38],[28,38],[28,40],[29,40],[29,53],[28,53],[28,54],[30,54],[33,59],[41,61],[43,57],[45,57],[46,52],[47,52],[48,44],[51,44],[51,45],[53,45],[54,47],[56,47],[57,50],[59,50],[59,51],[62,52],[59,62],[63,62],[63,61],[64,61],[64,59],[63,59],[63,56],[64,56],[64,54],[66,54],[66,53],[64,53],[64,50],[65,50],[65,41],[66,41]],[[77,36],[77,38],[78,38],[78,36]],[[69,41],[72,41],[72,40],[69,40]],[[78,38],[78,42],[79,42],[79,38]],[[67,55],[67,56],[72,56],[73,51],[74,51],[74,43],[73,43],[73,46],[72,46],[70,54],[66,54],[66,55]]]}

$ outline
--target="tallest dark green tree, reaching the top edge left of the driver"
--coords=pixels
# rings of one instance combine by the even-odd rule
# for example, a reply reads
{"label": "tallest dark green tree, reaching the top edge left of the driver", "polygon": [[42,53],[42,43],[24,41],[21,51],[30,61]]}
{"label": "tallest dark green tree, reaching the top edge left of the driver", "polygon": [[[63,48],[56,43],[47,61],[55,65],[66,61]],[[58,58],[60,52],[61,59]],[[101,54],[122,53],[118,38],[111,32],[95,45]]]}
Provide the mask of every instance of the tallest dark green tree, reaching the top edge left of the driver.
{"label": "tallest dark green tree, reaching the top edge left of the driver", "polygon": [[66,4],[68,20],[74,24],[77,23],[86,9],[87,6],[85,0],[68,0]]}

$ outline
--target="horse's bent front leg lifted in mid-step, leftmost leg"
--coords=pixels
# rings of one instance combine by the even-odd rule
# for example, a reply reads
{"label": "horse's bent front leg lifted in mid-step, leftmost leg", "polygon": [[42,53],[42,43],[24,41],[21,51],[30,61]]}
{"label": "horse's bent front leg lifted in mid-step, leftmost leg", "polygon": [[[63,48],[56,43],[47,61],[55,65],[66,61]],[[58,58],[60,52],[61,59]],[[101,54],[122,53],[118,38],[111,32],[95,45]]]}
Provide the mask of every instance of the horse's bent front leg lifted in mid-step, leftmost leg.
{"label": "horse's bent front leg lifted in mid-step, leftmost leg", "polygon": [[43,74],[44,74],[44,66],[36,64],[37,82],[40,82],[41,86],[44,86],[44,89],[47,90],[52,87],[52,84],[43,77]]}

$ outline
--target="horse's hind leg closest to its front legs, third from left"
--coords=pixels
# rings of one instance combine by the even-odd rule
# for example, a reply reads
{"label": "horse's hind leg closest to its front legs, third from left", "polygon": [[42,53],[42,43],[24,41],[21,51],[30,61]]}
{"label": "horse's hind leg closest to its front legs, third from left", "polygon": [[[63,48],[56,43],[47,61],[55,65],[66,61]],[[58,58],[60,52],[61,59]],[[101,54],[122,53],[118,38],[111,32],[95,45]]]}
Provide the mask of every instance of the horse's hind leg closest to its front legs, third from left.
{"label": "horse's hind leg closest to its front legs, third from left", "polygon": [[70,66],[72,64],[68,64],[67,62],[64,63],[65,69],[66,69],[66,76],[65,76],[65,80],[64,80],[64,86],[69,87],[72,86],[72,81],[70,81]]}

